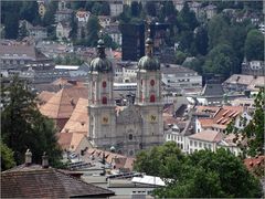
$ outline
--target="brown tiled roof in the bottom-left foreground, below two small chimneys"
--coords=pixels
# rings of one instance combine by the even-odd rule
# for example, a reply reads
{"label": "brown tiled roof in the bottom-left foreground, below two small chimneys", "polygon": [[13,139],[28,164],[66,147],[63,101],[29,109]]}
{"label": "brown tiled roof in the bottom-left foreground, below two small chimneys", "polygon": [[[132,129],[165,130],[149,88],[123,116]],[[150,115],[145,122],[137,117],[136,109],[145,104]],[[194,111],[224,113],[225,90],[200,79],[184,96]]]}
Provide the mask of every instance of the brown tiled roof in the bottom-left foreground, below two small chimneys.
{"label": "brown tiled roof in the bottom-left foreground, below two small chimneys", "polygon": [[1,172],[1,198],[105,198],[114,195],[53,168]]}

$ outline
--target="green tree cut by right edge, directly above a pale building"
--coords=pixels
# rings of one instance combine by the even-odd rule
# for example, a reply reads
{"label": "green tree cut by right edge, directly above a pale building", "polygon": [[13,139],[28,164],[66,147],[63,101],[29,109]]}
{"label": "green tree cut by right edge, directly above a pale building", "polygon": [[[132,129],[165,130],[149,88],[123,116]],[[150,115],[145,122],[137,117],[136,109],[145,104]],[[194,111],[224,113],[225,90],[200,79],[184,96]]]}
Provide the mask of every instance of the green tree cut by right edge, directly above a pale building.
{"label": "green tree cut by right edge, directly above a pale building", "polygon": [[247,61],[264,60],[264,35],[258,30],[251,30],[245,41],[245,56]]}

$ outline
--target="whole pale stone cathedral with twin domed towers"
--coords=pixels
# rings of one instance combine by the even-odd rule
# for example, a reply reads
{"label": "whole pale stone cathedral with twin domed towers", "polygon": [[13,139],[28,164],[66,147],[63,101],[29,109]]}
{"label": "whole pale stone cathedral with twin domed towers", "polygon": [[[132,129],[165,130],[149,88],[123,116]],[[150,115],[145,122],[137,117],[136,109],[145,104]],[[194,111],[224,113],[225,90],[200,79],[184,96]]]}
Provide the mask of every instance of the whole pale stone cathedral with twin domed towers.
{"label": "whole pale stone cathedral with twin domed towers", "polygon": [[152,54],[153,42],[146,40],[146,55],[138,62],[134,104],[118,108],[114,101],[114,71],[106,57],[103,39],[88,73],[88,132],[96,148],[135,156],[163,143],[160,63]]}

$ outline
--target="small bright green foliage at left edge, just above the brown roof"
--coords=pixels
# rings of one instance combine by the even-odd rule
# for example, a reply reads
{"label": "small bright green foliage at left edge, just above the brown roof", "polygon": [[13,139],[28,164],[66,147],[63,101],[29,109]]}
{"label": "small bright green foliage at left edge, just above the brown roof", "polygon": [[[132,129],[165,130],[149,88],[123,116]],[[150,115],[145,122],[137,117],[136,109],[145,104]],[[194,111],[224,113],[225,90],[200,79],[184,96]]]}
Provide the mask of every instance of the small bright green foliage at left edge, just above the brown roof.
{"label": "small bright green foliage at left edge, just above the brown roof", "polygon": [[2,140],[0,142],[0,150],[1,150],[1,170],[7,170],[15,166],[15,161],[13,158],[13,151],[4,144]]}

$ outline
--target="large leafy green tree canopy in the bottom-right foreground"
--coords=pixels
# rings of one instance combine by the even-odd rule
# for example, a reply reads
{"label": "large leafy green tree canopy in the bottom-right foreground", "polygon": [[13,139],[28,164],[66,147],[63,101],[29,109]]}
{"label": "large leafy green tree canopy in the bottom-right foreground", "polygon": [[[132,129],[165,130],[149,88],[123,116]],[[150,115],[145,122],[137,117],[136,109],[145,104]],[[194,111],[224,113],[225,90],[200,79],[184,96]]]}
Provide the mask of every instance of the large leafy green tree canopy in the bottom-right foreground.
{"label": "large leafy green tree canopy in the bottom-right foreground", "polygon": [[[162,198],[242,198],[262,196],[261,184],[242,160],[223,148],[183,155],[176,143],[140,151],[135,169],[159,176],[166,187],[153,191]],[[167,180],[170,179],[170,180]]]}

